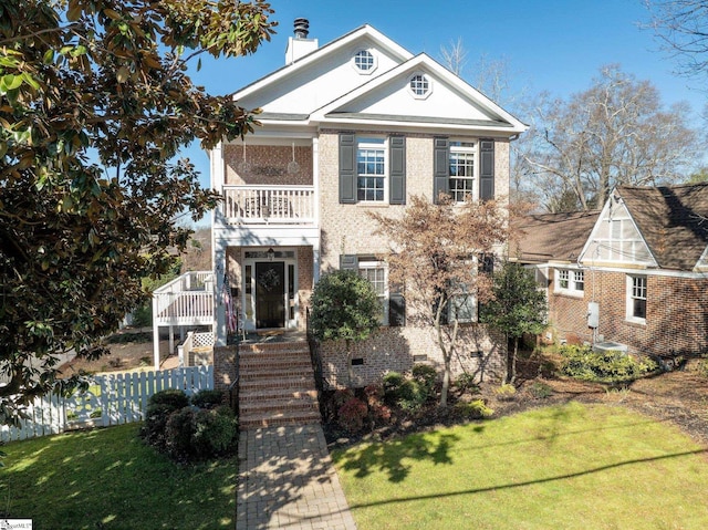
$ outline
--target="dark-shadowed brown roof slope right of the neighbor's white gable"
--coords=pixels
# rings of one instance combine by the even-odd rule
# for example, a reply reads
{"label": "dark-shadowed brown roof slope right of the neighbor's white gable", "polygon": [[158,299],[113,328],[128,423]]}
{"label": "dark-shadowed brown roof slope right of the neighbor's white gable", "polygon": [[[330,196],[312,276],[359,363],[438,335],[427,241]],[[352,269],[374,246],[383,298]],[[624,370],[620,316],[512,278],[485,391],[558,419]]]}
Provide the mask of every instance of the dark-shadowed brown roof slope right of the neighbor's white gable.
{"label": "dark-shadowed brown roof slope right of the neighbor's white gable", "polygon": [[662,269],[690,271],[708,246],[708,184],[617,186]]}

